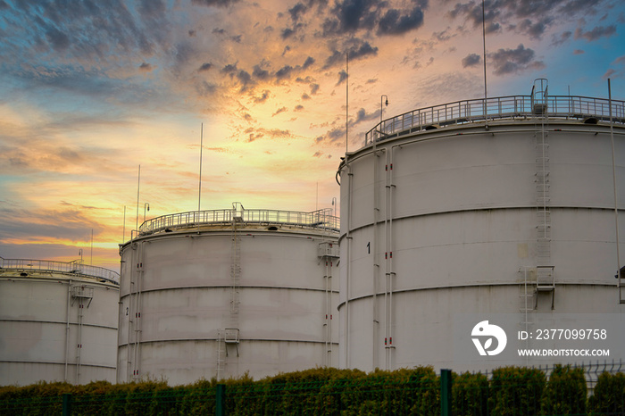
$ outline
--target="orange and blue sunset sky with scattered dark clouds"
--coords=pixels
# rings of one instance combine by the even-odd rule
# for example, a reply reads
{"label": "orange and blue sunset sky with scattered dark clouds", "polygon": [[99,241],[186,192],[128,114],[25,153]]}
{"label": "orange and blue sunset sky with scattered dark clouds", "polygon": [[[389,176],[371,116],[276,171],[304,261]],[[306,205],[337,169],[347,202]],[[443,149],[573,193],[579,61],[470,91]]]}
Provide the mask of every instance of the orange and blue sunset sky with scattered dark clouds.
{"label": "orange and blue sunset sky with scattered dark clouds", "polygon": [[[625,2],[487,0],[488,96],[625,99]],[[0,256],[119,271],[137,214],[331,207],[383,116],[484,95],[476,1],[0,0]],[[318,189],[318,191],[317,191]],[[123,235],[124,207],[126,233]]]}

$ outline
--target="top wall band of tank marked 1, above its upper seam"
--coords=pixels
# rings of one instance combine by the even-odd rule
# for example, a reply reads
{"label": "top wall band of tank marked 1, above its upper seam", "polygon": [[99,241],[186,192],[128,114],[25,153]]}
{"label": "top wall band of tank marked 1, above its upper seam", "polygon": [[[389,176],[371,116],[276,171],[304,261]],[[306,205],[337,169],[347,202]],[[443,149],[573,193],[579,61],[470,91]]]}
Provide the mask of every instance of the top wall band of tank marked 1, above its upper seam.
{"label": "top wall band of tank marked 1, above its upper seam", "polygon": [[[555,129],[559,126],[552,126]],[[371,148],[350,163],[352,206],[359,207],[341,221],[346,232],[371,224],[373,220],[373,163],[378,164],[379,218],[385,218],[384,200],[387,173],[394,185],[393,217],[458,210],[533,207],[536,205],[537,150],[532,125],[496,127],[491,133],[462,128],[462,135],[434,132],[402,146],[398,140],[381,142],[379,157]],[[472,131],[470,131],[472,130]],[[449,130],[446,130],[448,132]],[[572,207],[614,206],[612,190],[612,149],[609,135],[588,132],[550,131],[548,135],[551,205]],[[437,137],[440,136],[440,137]],[[617,140],[617,175],[625,175]],[[441,146],[441,141],[445,144]],[[554,151],[557,149],[557,151]],[[393,169],[387,171],[392,163]],[[345,173],[348,169],[346,168]],[[348,206],[348,175],[341,176],[341,204]],[[583,192],[579,192],[583,189]],[[619,205],[625,196],[619,193]]]}

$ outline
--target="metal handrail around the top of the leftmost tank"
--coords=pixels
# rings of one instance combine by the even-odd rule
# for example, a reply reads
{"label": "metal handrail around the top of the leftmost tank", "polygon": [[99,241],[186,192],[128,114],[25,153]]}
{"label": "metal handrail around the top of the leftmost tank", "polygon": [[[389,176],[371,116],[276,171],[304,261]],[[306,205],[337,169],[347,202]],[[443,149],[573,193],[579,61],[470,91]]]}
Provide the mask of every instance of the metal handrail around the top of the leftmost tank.
{"label": "metal handrail around the top of the leftmost tank", "polygon": [[116,286],[120,285],[120,273],[104,269],[104,267],[82,264],[79,261],[56,262],[54,260],[4,259],[0,257],[0,269],[56,271],[72,276],[85,276],[89,278],[103,279]]}

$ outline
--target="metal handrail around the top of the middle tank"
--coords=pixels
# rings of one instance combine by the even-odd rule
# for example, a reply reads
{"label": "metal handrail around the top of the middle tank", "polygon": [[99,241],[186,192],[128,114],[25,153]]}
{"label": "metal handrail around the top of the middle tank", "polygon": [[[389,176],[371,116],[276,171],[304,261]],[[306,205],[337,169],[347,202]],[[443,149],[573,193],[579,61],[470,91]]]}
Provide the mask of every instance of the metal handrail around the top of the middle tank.
{"label": "metal handrail around the top of the middle tank", "polygon": [[292,225],[305,229],[338,232],[340,229],[338,217],[330,215],[330,212],[332,210],[329,208],[313,212],[243,209],[178,212],[146,220],[139,226],[138,235],[200,225],[229,224],[235,220],[247,224]]}

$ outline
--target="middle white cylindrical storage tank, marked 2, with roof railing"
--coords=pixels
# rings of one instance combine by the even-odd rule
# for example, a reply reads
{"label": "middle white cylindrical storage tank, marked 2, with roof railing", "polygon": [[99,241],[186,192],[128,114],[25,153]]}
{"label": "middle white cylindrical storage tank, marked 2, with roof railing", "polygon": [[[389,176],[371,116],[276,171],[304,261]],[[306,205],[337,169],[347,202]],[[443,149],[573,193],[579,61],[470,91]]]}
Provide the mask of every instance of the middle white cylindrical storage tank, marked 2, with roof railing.
{"label": "middle white cylindrical storage tank, marked 2, with roof railing", "polygon": [[336,366],[337,240],[329,210],[233,204],[146,221],[121,245],[118,381]]}

